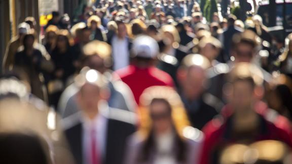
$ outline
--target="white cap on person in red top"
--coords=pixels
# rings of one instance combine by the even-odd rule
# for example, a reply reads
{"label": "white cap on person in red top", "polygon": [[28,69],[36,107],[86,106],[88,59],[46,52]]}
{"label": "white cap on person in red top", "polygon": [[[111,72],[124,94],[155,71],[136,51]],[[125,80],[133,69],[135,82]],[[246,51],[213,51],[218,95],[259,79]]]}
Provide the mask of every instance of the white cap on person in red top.
{"label": "white cap on person in red top", "polygon": [[159,46],[156,40],[147,35],[140,35],[133,40],[132,57],[156,58]]}

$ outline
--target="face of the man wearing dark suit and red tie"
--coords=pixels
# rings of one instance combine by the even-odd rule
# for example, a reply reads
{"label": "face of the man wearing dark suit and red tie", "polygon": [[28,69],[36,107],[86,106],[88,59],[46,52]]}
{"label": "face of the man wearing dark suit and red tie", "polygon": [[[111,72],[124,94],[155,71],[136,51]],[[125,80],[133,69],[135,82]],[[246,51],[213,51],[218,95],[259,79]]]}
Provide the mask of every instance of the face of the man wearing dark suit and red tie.
{"label": "face of the man wearing dark suit and red tie", "polygon": [[79,105],[85,112],[96,112],[100,100],[99,88],[92,84],[85,84],[79,93]]}

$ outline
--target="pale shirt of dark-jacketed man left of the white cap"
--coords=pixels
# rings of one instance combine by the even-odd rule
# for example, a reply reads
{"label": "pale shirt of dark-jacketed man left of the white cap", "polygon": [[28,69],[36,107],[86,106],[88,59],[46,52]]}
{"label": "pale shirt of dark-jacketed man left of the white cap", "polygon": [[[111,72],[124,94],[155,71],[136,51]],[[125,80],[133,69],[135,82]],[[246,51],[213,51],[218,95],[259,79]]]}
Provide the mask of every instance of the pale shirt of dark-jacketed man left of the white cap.
{"label": "pale shirt of dark-jacketed man left of the white cap", "polygon": [[124,68],[129,65],[129,50],[128,50],[128,39],[120,39],[117,36],[113,37],[112,48],[113,48],[113,59],[114,59],[114,70]]}

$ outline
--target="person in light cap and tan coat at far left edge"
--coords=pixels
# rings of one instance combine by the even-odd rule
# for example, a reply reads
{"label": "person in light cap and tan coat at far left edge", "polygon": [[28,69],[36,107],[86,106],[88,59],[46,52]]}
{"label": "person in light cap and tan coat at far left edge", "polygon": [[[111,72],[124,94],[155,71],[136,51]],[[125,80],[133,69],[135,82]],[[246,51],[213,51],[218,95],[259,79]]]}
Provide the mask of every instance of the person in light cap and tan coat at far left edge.
{"label": "person in light cap and tan coat at far left edge", "polygon": [[16,54],[18,48],[22,45],[22,39],[26,33],[30,30],[29,24],[23,22],[18,25],[18,36],[12,38],[6,48],[5,55],[3,57],[3,72],[12,70],[14,55]]}

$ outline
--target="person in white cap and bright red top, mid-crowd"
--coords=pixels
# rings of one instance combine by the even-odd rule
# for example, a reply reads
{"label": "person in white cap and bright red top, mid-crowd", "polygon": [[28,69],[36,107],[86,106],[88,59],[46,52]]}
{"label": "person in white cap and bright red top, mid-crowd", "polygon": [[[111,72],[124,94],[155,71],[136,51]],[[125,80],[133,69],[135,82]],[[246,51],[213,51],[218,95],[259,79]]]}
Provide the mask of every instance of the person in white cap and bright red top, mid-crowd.
{"label": "person in white cap and bright red top, mid-crowd", "polygon": [[152,37],[141,35],[133,40],[131,49],[132,64],[118,70],[121,79],[132,90],[138,103],[144,89],[151,86],[173,87],[172,78],[155,67],[159,46]]}

